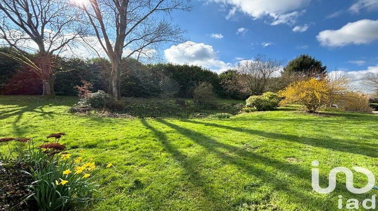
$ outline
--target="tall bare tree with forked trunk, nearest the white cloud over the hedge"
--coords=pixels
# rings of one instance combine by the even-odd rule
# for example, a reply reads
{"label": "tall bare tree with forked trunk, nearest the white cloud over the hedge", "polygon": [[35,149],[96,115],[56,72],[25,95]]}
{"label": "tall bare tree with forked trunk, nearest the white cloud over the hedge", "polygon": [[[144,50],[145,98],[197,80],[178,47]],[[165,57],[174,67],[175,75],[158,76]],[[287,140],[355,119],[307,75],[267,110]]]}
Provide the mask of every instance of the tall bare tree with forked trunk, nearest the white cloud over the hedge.
{"label": "tall bare tree with forked trunk, nearest the white cloud over the hedge", "polygon": [[[83,0],[94,36],[111,61],[110,94],[120,97],[120,66],[125,58],[148,57],[161,43],[183,42],[181,30],[163,17],[175,10],[190,11],[186,0]],[[163,15],[163,16],[162,16]],[[90,43],[89,43],[90,44]]]}

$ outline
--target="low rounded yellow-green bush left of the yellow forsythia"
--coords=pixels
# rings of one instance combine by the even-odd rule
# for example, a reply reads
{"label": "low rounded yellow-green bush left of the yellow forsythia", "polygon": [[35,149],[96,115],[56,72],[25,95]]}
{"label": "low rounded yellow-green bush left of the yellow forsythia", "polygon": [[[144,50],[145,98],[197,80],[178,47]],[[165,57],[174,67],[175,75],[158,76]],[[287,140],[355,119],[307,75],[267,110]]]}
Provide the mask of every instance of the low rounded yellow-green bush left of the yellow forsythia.
{"label": "low rounded yellow-green bush left of the yellow forsythia", "polygon": [[271,111],[278,107],[281,98],[274,92],[265,92],[263,95],[254,95],[245,100],[245,108],[257,111]]}

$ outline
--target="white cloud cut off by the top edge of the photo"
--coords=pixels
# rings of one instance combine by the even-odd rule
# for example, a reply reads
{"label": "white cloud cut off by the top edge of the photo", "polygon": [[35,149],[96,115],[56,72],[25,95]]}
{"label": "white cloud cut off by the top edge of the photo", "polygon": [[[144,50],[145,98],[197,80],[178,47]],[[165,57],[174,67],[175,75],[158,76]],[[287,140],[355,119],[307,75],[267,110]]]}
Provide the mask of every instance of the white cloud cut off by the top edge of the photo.
{"label": "white cloud cut off by the top edge of the photo", "polygon": [[272,25],[293,24],[302,12],[298,10],[306,7],[310,0],[207,0],[231,7],[226,18],[230,18],[237,11],[251,16],[253,19],[263,17],[273,18]]}

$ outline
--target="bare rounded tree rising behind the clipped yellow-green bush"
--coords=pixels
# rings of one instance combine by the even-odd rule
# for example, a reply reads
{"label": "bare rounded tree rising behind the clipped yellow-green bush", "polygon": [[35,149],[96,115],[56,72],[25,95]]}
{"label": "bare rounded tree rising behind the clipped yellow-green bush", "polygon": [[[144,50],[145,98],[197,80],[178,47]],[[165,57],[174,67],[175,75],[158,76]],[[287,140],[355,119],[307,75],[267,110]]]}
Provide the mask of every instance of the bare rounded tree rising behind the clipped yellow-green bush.
{"label": "bare rounded tree rising behind the clipped yellow-green bush", "polygon": [[278,76],[282,64],[283,61],[257,55],[252,60],[240,61],[235,70],[240,74],[239,83],[247,92],[251,95],[261,95],[266,90],[269,79]]}

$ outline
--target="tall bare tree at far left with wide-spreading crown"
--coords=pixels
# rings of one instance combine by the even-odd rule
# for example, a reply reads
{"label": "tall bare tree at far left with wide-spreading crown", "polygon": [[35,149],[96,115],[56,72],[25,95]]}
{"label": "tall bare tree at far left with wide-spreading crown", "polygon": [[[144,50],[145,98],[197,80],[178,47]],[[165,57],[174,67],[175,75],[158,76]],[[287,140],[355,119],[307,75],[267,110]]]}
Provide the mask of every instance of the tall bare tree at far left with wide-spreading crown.
{"label": "tall bare tree at far left with wide-spreading crown", "polygon": [[[0,0],[0,40],[19,52],[2,53],[31,67],[43,84],[43,95],[55,95],[54,57],[80,37],[82,11],[67,0]],[[34,59],[22,52],[35,53]]]}

